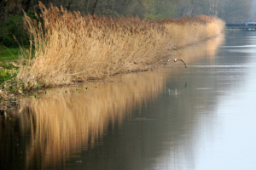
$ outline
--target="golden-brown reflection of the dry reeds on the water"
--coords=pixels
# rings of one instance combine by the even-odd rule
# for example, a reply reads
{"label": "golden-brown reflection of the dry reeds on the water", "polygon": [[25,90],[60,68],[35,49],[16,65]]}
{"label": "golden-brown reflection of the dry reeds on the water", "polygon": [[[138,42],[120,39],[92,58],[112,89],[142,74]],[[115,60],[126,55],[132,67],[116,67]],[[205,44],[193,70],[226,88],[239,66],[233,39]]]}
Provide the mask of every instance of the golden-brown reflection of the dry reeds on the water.
{"label": "golden-brown reflection of the dry reeds on the water", "polygon": [[[221,39],[177,51],[183,59],[201,59],[214,54]],[[193,54],[193,56],[191,56]],[[177,56],[181,58],[180,56]],[[191,59],[190,59],[191,58]],[[26,166],[37,159],[42,166],[65,163],[82,148],[93,147],[102,138],[109,122],[122,123],[143,102],[154,99],[166,87],[166,72],[142,72],[120,77],[120,82],[92,86],[88,89],[58,88],[40,99],[20,100],[20,125],[31,132],[26,144]]]}

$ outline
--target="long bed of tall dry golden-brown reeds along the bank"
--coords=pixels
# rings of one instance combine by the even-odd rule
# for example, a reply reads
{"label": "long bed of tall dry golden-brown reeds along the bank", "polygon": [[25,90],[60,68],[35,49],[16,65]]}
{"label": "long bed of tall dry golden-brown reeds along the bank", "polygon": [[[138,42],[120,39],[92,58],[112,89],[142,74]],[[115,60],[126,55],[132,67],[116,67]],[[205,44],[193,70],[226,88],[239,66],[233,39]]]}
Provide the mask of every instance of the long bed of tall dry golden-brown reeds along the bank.
{"label": "long bed of tall dry golden-brown reeds along the bank", "polygon": [[40,8],[44,26],[24,17],[35,55],[20,68],[18,79],[53,86],[148,70],[172,48],[215,37],[224,26],[207,16],[146,21],[81,15],[42,3]]}

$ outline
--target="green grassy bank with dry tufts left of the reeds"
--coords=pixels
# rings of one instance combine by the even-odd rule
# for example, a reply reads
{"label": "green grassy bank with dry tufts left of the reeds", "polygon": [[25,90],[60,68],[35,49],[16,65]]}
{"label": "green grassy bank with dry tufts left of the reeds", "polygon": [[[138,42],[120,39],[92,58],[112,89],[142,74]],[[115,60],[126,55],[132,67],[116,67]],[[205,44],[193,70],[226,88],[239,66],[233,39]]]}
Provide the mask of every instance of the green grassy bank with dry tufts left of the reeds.
{"label": "green grassy bank with dry tufts left of the reeds", "polygon": [[[31,50],[29,50],[31,48]],[[33,56],[32,47],[6,48],[0,46],[0,100],[10,100],[15,94],[27,94],[38,90],[41,85],[35,81],[18,80],[20,65],[26,65],[26,57]],[[24,59],[23,61],[21,61]]]}

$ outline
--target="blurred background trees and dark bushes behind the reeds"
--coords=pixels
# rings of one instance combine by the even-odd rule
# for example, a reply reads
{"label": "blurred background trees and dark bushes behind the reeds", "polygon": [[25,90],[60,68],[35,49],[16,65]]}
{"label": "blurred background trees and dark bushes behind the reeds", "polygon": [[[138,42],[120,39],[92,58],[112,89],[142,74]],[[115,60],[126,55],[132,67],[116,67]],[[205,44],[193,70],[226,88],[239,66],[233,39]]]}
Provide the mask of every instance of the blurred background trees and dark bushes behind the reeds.
{"label": "blurred background trees and dark bushes behind the reeds", "polygon": [[[42,0],[46,7],[53,4],[80,11],[81,14],[136,16],[148,20],[178,18],[185,15],[215,15],[227,23],[241,23],[252,13],[252,0]],[[40,13],[38,1],[3,0],[0,2],[0,45],[17,46],[13,35],[21,45],[28,37],[23,29],[22,9],[31,17]]]}

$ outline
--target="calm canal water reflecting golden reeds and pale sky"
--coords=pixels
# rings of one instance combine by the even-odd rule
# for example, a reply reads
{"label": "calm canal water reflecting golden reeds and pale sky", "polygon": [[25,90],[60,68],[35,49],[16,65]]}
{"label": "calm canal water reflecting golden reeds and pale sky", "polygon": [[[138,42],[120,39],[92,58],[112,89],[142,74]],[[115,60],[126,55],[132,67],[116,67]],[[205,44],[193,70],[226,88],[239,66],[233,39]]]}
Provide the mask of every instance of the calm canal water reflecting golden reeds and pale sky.
{"label": "calm canal water reflecting golden reeds and pale sky", "polygon": [[256,169],[256,32],[1,106],[0,169]]}

